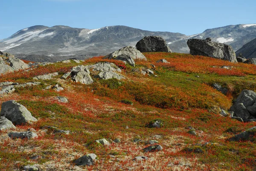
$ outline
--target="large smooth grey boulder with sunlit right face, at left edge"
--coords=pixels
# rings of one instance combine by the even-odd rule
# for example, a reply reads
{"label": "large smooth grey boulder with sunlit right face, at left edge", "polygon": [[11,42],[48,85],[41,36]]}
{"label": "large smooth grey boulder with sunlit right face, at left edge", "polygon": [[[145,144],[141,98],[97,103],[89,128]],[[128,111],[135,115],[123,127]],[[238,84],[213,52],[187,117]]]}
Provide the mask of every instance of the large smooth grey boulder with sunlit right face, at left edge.
{"label": "large smooth grey boulder with sunlit right face, at left edge", "polygon": [[0,116],[6,117],[15,125],[22,125],[29,122],[38,121],[31,115],[26,107],[14,100],[3,102]]}

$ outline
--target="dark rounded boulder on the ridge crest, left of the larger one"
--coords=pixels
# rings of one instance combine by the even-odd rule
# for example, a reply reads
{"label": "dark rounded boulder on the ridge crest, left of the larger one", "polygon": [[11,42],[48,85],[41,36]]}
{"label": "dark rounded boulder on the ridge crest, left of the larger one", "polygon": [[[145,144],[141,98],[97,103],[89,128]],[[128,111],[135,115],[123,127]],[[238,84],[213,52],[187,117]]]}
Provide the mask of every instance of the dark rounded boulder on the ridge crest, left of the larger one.
{"label": "dark rounded boulder on the ridge crest, left of the larger one", "polygon": [[166,41],[160,36],[145,36],[138,41],[136,48],[140,52],[172,52]]}

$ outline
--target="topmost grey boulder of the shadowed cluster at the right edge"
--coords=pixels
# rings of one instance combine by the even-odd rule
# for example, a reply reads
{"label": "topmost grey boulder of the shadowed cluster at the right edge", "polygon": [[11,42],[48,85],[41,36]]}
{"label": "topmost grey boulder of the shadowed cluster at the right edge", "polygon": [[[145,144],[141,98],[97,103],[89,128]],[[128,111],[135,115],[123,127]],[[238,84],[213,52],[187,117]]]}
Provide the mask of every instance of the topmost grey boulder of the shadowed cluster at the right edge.
{"label": "topmost grey boulder of the shadowed cluster at the right edge", "polygon": [[234,104],[243,103],[244,107],[249,107],[256,101],[256,93],[252,90],[242,90]]}

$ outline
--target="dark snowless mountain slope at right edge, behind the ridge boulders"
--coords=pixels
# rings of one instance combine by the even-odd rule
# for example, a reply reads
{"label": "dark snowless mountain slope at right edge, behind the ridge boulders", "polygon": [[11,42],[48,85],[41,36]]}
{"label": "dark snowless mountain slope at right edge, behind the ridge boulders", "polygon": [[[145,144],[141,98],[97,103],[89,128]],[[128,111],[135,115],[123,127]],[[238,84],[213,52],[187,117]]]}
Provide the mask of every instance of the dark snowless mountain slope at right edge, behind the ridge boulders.
{"label": "dark snowless mountain slope at right edge, behind the ridge boulders", "polygon": [[241,47],[238,51],[236,51],[236,55],[242,54],[245,58],[256,58],[256,39],[246,43]]}

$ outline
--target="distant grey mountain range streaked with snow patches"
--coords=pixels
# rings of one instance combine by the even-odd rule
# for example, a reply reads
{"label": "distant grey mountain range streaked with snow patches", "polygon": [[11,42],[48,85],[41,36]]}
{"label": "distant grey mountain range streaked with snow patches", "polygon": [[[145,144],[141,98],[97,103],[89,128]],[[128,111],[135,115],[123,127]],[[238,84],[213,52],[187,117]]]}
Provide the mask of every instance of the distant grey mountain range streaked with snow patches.
{"label": "distant grey mountain range streaked with snow patches", "polygon": [[0,50],[30,61],[59,61],[107,55],[124,46],[135,46],[146,35],[162,36],[173,52],[189,53],[190,38],[227,43],[236,51],[256,38],[256,24],[230,25],[207,29],[187,36],[172,32],[151,32],[128,26],[79,29],[69,26],[32,26],[0,41]]}

